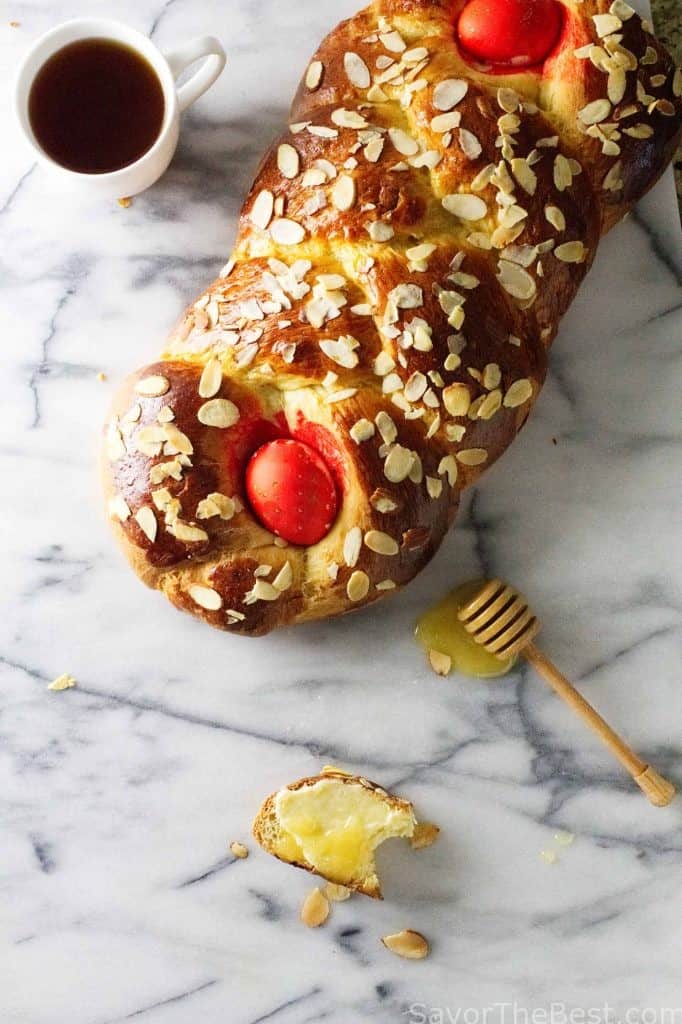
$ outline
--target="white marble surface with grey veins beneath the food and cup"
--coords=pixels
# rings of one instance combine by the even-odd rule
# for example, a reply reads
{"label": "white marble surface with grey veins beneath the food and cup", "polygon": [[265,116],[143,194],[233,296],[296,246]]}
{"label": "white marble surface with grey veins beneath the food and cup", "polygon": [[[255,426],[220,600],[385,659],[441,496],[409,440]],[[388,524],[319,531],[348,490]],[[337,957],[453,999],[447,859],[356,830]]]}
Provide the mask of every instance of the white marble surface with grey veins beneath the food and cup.
{"label": "white marble surface with grey veins beneath the food and cup", "polygon": [[[508,577],[542,609],[547,649],[682,783],[682,292],[670,177],[603,243],[523,439],[395,600],[264,640],[213,633],[139,585],[102,516],[95,451],[110,392],[224,261],[307,54],[352,7],[3,6],[2,1024],[427,1013],[478,1024],[484,1008],[513,1000],[520,1015],[609,1004],[594,1024],[628,1008],[627,1024],[663,1024],[666,1008],[677,1009],[666,1024],[682,1019],[682,801],[649,807],[527,673],[444,681],[411,638],[452,584]],[[229,53],[186,118],[170,173],[128,210],[57,190],[9,113],[6,85],[31,40],[89,11],[165,45],[212,31]],[[78,688],[47,692],[67,671]],[[253,849],[233,862],[226,848],[247,839],[265,794],[330,761],[396,786],[443,835],[420,854],[386,851],[386,901],[338,905],[313,932],[297,921],[306,876]],[[540,851],[557,828],[577,839],[548,865]],[[428,961],[382,947],[379,936],[403,927],[432,940]],[[488,1015],[514,1019],[510,1008]]]}

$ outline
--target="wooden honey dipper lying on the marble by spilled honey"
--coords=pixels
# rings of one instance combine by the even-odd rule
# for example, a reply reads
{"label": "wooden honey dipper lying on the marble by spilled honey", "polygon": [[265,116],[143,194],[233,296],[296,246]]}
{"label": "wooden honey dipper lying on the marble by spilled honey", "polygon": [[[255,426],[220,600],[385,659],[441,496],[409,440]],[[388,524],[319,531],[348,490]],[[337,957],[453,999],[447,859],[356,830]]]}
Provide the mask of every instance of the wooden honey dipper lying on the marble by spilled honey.
{"label": "wooden honey dipper lying on the marble by spilled honey", "polygon": [[651,803],[656,807],[670,804],[675,796],[673,783],[642,761],[532,643],[540,632],[540,622],[518,591],[501,580],[491,580],[457,614],[467,633],[488,653],[500,659],[522,654],[554,692],[606,744]]}

